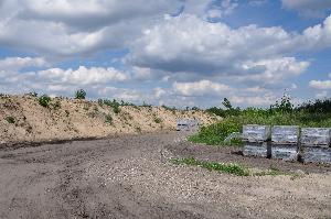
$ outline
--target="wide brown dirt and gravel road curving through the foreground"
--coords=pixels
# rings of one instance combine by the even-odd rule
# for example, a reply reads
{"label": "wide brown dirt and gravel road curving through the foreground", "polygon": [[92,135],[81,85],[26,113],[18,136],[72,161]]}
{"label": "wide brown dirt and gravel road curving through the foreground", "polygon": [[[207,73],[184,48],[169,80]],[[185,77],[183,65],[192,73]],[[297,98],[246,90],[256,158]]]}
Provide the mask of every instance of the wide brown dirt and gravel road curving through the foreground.
{"label": "wide brown dirt and gravel road curving through the foreground", "polygon": [[[246,158],[183,139],[143,134],[4,149],[0,218],[331,218],[330,166]],[[171,156],[309,174],[238,177],[174,166]]]}

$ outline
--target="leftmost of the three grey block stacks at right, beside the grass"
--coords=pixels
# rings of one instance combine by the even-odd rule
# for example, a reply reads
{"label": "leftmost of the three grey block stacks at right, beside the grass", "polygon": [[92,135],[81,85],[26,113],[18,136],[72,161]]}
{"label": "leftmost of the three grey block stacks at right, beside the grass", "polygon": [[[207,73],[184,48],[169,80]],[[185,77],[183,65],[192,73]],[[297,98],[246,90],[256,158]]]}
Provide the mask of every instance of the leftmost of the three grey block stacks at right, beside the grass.
{"label": "leftmost of the three grey block stacks at right, beside the grass", "polygon": [[270,139],[269,125],[247,124],[243,127],[242,140],[244,142],[243,154],[245,156],[270,156]]}

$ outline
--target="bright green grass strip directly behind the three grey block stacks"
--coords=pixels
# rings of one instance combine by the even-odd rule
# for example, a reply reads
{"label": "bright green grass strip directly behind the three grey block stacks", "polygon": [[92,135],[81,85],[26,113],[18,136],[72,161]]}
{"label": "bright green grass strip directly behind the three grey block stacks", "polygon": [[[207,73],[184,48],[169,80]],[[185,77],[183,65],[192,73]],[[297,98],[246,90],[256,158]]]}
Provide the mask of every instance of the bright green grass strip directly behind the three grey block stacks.
{"label": "bright green grass strip directly behind the three grey block stacks", "polygon": [[[331,113],[309,113],[305,111],[293,112],[267,112],[259,110],[245,110],[238,116],[231,116],[224,120],[202,127],[197,134],[189,136],[189,141],[207,145],[228,145],[224,139],[233,132],[242,132],[244,124],[268,125],[299,125],[331,128]],[[241,140],[233,140],[231,145],[242,145]]]}

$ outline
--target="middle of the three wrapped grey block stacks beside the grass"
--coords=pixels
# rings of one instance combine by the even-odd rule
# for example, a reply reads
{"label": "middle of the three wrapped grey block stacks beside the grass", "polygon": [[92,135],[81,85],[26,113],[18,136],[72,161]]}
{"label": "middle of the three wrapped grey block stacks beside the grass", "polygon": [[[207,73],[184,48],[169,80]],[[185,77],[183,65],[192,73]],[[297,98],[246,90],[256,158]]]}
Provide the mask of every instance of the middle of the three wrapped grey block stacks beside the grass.
{"label": "middle of the three wrapped grey block stacks beside the grass", "polygon": [[271,158],[297,161],[299,127],[275,125],[271,131]]}

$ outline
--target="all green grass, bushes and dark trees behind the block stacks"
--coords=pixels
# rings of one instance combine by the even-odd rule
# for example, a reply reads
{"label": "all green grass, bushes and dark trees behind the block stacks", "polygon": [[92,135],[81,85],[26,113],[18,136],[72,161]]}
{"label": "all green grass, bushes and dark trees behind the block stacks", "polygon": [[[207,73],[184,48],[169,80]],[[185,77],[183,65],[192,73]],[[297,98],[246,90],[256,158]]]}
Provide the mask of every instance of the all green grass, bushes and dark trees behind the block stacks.
{"label": "all green grass, bushes and dark trees behind the block stacks", "polygon": [[[195,143],[225,145],[224,139],[232,132],[242,132],[244,124],[299,125],[331,128],[331,99],[316,100],[293,107],[290,98],[284,96],[269,109],[233,108],[225,98],[222,108],[210,108],[206,111],[224,119],[217,123],[202,127],[200,132],[189,138]],[[242,145],[241,140],[233,140],[231,145]]]}

